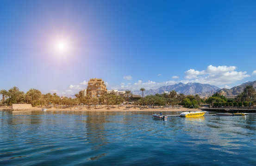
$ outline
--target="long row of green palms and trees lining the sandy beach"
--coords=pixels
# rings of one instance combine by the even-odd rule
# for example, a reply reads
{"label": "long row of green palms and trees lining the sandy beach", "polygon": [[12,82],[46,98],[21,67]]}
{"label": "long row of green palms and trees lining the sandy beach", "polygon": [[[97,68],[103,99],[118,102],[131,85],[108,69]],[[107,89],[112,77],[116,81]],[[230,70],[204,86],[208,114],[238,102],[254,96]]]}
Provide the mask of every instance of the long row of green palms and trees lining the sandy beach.
{"label": "long row of green palms and trees lining the sandy beach", "polygon": [[[243,92],[234,100],[227,100],[225,96],[219,95],[219,93],[213,94],[206,101],[202,100],[199,95],[184,95],[177,94],[175,90],[167,93],[147,95],[144,97],[144,88],[140,89],[142,91],[142,98],[138,101],[133,101],[134,105],[139,106],[165,106],[170,105],[175,107],[176,105],[181,105],[184,107],[194,106],[195,108],[200,107],[202,103],[208,103],[210,106],[249,106],[256,103],[256,89],[252,85],[247,85]],[[124,101],[131,101],[132,93],[130,90],[125,91],[124,96],[115,96],[112,94],[107,94],[106,92],[101,94],[99,100],[97,98],[92,98],[90,95],[82,96],[82,91],[75,94],[75,98],[60,97],[56,93],[42,94],[38,89],[29,89],[26,93],[20,91],[18,87],[14,86],[9,90],[0,90],[0,95],[2,95],[2,103],[11,106],[16,103],[28,103],[32,106],[44,106],[44,105],[64,105],[66,107],[85,104],[88,106],[93,105],[96,107],[97,104],[108,105],[118,105],[122,104]],[[222,104],[220,104],[222,103]],[[225,104],[223,104],[225,103]]]}

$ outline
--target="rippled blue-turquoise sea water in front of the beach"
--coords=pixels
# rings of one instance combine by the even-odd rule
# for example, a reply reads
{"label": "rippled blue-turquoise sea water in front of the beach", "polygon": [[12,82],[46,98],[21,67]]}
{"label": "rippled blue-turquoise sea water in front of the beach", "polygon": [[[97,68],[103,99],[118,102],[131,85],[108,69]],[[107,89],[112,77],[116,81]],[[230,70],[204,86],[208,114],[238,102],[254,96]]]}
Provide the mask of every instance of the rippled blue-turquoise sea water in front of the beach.
{"label": "rippled blue-turquoise sea water in front of the beach", "polygon": [[0,111],[0,165],[256,165],[256,116],[151,115]]}

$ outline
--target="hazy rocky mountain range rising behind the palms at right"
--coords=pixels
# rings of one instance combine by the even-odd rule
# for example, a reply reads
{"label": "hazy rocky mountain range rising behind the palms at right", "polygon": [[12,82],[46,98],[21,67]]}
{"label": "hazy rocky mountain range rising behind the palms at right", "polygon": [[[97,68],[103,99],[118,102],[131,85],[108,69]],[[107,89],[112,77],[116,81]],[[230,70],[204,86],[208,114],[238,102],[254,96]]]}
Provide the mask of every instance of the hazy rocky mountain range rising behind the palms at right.
{"label": "hazy rocky mountain range rising behind the palms at right", "polygon": [[[201,97],[204,96],[211,96],[212,94],[216,92],[220,92],[221,90],[224,90],[228,96],[235,96],[243,92],[246,85],[252,85],[254,88],[256,88],[256,81],[253,82],[246,82],[239,86],[233,87],[231,89],[220,89],[219,87],[216,87],[214,85],[209,84],[202,84],[202,83],[178,83],[174,85],[168,85],[168,86],[162,86],[157,89],[148,89],[144,91],[144,96],[146,95],[156,95],[156,94],[162,94],[164,92],[170,92],[172,90],[175,90],[178,94],[183,93],[184,95],[200,95]],[[121,91],[125,91],[127,89],[119,89]],[[134,90],[131,91],[133,95],[142,95],[142,92],[140,90]]]}

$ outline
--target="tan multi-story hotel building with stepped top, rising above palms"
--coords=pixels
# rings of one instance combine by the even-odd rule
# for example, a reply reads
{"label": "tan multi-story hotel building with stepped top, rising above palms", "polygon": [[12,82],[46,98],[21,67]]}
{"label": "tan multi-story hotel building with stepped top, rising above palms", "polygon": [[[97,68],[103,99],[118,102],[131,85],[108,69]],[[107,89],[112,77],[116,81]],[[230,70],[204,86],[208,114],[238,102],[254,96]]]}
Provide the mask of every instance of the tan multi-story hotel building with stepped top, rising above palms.
{"label": "tan multi-story hotel building with stepped top, rising above palms", "polygon": [[100,98],[100,96],[106,92],[106,85],[102,79],[91,78],[90,81],[88,81],[87,94],[92,98]]}

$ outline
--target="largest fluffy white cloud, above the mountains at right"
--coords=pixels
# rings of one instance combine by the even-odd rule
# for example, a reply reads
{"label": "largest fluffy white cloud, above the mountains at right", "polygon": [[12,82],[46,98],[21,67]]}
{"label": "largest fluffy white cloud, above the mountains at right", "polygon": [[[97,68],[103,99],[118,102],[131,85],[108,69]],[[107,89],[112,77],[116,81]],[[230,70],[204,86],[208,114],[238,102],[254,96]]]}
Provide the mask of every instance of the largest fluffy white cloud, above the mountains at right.
{"label": "largest fluffy white cloud, above the mountains at right", "polygon": [[235,83],[245,77],[250,77],[246,71],[235,71],[235,66],[212,66],[209,65],[206,70],[195,71],[190,69],[185,71],[186,79],[193,83],[207,83],[211,85],[225,85]]}

